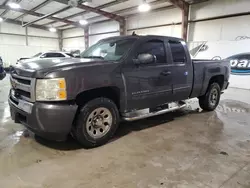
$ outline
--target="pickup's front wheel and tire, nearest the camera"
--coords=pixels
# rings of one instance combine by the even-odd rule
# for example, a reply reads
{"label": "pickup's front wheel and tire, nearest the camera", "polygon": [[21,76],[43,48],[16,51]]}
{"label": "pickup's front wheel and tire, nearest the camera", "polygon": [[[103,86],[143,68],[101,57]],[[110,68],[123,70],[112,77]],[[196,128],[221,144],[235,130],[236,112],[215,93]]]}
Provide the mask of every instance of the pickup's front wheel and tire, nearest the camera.
{"label": "pickup's front wheel and tire, nearest the camera", "polygon": [[119,120],[117,106],[112,100],[96,98],[81,107],[72,134],[85,148],[101,146],[114,135]]}

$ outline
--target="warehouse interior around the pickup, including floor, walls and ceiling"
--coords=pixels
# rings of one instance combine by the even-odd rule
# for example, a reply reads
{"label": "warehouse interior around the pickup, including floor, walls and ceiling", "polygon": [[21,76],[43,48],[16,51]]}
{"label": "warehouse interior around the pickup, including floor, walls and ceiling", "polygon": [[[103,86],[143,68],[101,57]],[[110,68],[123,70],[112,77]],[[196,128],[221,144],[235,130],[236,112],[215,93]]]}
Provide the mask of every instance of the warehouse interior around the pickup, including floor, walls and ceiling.
{"label": "warehouse interior around the pickup, including floor, walls and ceiling", "polygon": [[[0,187],[250,187],[249,20],[249,0],[0,0]],[[94,149],[36,137],[11,119],[8,69],[21,58],[77,58],[133,33],[182,38],[193,59],[244,58],[230,62],[215,111],[190,99],[182,111],[122,122]]]}

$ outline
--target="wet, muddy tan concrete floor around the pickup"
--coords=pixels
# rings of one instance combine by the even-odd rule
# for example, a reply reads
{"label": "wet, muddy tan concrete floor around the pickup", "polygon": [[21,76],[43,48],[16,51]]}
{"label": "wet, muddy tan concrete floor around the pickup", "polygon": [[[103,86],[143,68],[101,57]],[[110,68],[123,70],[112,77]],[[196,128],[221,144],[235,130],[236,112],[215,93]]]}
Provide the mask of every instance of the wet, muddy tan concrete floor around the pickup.
{"label": "wet, muddy tan concrete floor around the pickup", "polygon": [[250,91],[229,89],[216,112],[196,100],[175,113],[123,123],[105,146],[49,142],[10,119],[0,81],[1,188],[250,187]]}

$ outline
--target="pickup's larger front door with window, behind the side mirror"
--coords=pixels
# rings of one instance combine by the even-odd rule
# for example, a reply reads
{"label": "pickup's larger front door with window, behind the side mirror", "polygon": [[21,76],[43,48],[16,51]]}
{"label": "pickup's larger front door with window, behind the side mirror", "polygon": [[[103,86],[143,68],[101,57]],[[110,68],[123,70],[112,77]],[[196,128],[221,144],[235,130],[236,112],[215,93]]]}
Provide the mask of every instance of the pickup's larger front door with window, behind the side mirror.
{"label": "pickup's larger front door with window, behind the side mirror", "polygon": [[[139,54],[150,53],[156,61],[150,64],[135,64]],[[166,52],[163,37],[147,37],[135,46],[130,62],[123,69],[128,92],[128,109],[156,107],[171,101],[172,66]]]}

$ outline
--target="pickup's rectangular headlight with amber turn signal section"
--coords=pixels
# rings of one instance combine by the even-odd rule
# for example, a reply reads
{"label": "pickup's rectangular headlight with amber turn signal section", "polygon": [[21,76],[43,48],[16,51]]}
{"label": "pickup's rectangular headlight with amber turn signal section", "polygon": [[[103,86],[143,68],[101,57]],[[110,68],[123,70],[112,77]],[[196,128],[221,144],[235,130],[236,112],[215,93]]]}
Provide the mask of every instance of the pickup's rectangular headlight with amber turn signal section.
{"label": "pickup's rectangular headlight with amber turn signal section", "polygon": [[37,101],[62,101],[67,99],[66,82],[64,78],[37,79]]}

